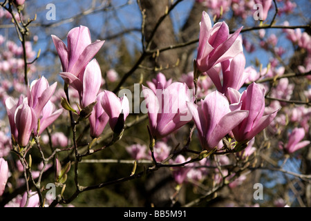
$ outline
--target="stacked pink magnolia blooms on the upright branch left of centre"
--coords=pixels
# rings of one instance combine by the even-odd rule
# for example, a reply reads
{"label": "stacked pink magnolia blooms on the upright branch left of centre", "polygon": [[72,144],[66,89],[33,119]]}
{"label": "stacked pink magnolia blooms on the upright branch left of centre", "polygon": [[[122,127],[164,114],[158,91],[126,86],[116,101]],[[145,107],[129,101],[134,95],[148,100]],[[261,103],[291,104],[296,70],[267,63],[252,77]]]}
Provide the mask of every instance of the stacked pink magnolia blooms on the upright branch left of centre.
{"label": "stacked pink magnolia blooms on the upright branch left of centre", "polygon": [[99,137],[108,122],[114,132],[120,132],[120,125],[124,126],[124,121],[129,115],[129,100],[126,96],[119,98],[109,90],[100,90],[102,72],[93,57],[104,41],[97,40],[92,43],[90,31],[85,26],[73,28],[68,32],[68,46],[55,35],[52,35],[52,39],[62,63],[63,70],[59,75],[66,84],[77,91],[80,107],[86,108],[96,102],[88,118],[91,136]]}

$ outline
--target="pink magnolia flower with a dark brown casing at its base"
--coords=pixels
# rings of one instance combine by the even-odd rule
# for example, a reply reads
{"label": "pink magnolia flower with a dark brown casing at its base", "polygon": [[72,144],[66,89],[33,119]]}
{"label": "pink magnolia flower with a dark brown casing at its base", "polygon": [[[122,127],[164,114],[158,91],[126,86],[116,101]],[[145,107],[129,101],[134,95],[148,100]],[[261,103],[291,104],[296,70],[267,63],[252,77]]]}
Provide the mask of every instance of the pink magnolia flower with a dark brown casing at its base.
{"label": "pink magnolia flower with a dark brown casing at its base", "polygon": [[[129,99],[124,95],[122,98],[117,97],[113,92],[104,90],[102,96],[102,108],[109,116],[109,125],[113,131],[119,131],[119,126],[124,126],[126,117],[129,115]],[[123,124],[118,122],[122,120]]]}

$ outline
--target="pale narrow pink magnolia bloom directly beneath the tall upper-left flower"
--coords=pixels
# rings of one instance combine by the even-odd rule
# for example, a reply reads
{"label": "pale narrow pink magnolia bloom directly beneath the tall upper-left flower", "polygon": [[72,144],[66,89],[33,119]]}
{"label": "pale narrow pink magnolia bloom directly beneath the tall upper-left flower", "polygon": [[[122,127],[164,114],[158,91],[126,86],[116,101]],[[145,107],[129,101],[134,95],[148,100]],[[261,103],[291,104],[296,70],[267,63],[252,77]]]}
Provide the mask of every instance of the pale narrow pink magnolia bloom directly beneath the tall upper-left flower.
{"label": "pale narrow pink magnolia bloom directly beneath the tall upper-left flower", "polygon": [[79,92],[82,108],[95,102],[95,98],[102,84],[102,72],[96,59],[93,59],[87,64],[84,72],[79,77],[68,72],[62,72],[59,75],[61,75],[67,84]]}

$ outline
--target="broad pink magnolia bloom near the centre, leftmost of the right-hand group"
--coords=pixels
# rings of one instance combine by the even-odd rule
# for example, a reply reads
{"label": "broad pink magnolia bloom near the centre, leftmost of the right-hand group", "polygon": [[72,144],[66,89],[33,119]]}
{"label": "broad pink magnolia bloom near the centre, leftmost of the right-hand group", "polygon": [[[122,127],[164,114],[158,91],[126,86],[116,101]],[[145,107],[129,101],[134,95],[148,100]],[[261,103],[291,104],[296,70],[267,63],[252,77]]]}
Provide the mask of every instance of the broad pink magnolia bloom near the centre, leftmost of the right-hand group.
{"label": "broad pink magnolia bloom near the centre, leftmost of the right-hand group", "polygon": [[142,93],[153,138],[166,137],[191,120],[187,102],[191,101],[193,93],[186,84],[175,82],[165,89],[160,86],[156,94],[150,88],[142,86]]}

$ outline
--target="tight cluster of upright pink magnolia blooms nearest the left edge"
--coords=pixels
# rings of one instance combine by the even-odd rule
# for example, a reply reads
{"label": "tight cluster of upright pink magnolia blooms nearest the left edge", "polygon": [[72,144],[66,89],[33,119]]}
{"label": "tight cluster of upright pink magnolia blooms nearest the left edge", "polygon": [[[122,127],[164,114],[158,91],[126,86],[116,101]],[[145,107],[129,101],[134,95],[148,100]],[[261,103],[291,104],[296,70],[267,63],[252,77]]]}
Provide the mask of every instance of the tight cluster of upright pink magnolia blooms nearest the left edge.
{"label": "tight cluster of upright pink magnolia blooms nearest the left edge", "polygon": [[41,134],[61,115],[62,109],[55,110],[55,104],[50,102],[56,86],[56,82],[49,86],[48,80],[41,77],[27,88],[27,97],[6,99],[12,137],[19,146],[27,146],[32,133]]}

